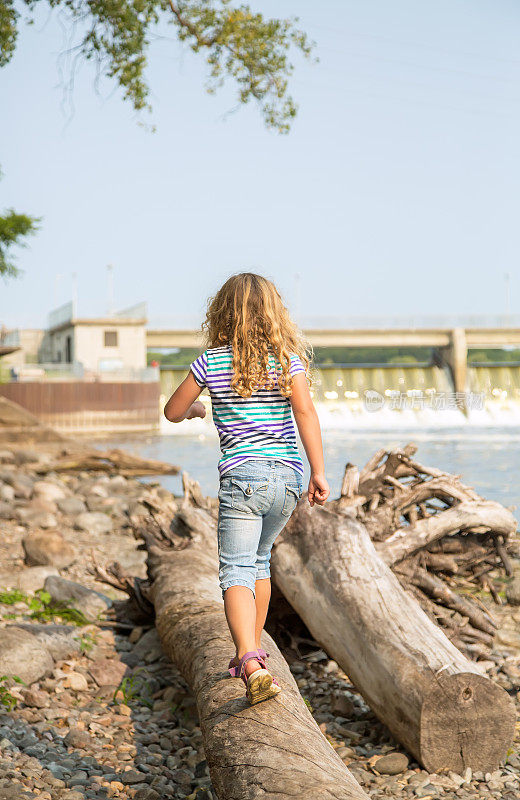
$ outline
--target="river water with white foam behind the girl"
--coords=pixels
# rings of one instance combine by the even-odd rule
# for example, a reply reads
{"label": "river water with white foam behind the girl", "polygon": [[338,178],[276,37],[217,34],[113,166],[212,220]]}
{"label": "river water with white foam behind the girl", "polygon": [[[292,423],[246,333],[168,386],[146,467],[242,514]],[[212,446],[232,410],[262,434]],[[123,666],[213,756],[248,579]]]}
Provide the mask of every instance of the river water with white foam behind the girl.
{"label": "river water with white foam behind the girl", "polygon": [[[351,462],[362,467],[380,447],[403,447],[415,442],[415,458],[423,464],[460,475],[464,483],[490,500],[505,506],[518,507],[520,511],[520,426],[494,424],[495,420],[481,419],[474,423],[461,422],[460,417],[437,412],[437,419],[410,424],[408,419],[394,417],[384,425],[373,420],[372,427],[366,416],[362,424],[352,426],[343,415],[330,413],[318,407],[322,423],[326,476],[331,487],[331,497],[339,495],[345,464]],[[442,424],[438,424],[442,422]],[[376,423],[376,424],[374,424]],[[103,437],[97,446],[124,447],[134,453],[160,459],[181,467],[199,481],[205,494],[216,495],[218,490],[217,461],[220,456],[218,438],[209,413],[205,420],[190,420],[172,424],[164,420],[162,432],[157,434],[128,434]],[[309,469],[305,452],[300,453],[305,464],[305,478]],[[166,488],[181,494],[179,475],[167,475],[158,480]]]}

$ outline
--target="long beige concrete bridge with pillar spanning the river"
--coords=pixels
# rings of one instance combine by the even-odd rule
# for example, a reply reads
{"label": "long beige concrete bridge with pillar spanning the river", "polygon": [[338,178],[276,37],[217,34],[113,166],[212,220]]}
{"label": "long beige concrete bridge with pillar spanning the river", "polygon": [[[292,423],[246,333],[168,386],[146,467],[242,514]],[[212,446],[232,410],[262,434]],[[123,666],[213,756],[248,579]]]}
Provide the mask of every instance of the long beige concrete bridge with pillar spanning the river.
{"label": "long beige concrete bridge with pillar spanning the river", "polygon": [[[515,327],[446,328],[307,328],[313,347],[431,347],[439,365],[449,367],[456,392],[467,390],[468,350],[520,347],[520,324]],[[146,346],[202,349],[200,330],[148,329]]]}

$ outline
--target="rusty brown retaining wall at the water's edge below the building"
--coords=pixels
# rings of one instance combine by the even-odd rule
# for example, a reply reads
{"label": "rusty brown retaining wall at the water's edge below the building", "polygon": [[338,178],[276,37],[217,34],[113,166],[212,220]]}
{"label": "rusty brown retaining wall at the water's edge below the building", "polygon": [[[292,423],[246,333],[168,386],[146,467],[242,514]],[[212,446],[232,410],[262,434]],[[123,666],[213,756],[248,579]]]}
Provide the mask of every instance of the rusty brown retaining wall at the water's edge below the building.
{"label": "rusty brown retaining wall at the water's edge below the building", "polygon": [[158,382],[13,382],[0,396],[18,403],[56,430],[137,431],[159,426]]}

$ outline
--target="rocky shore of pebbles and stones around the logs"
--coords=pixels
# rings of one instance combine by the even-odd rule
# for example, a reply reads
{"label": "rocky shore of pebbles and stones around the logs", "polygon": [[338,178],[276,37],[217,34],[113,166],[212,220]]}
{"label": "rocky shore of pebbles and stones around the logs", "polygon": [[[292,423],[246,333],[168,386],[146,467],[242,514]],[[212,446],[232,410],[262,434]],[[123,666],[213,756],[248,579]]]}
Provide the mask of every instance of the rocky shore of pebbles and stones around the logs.
{"label": "rocky shore of pebbles and stones around the logs", "polygon": [[[145,577],[130,515],[144,512],[148,485],[95,472],[42,478],[46,458],[42,449],[0,452],[0,800],[214,798],[184,680],[153,627],[106,620],[124,595],[91,569],[93,558],[118,561]],[[515,570],[503,605],[482,598],[500,626],[480,663],[520,706],[520,563]],[[492,774],[429,774],[318,645],[297,660],[286,655],[369,796],[520,797],[520,730]]]}

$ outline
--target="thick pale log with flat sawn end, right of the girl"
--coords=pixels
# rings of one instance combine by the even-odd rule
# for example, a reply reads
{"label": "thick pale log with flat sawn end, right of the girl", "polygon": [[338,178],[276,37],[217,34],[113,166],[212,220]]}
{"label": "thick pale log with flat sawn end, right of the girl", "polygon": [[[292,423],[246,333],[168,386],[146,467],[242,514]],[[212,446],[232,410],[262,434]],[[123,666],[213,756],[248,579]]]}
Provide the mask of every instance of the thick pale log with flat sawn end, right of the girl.
{"label": "thick pale log with flat sawn end, right of the girl", "polygon": [[428,771],[498,767],[513,701],[401,587],[362,524],[300,501],[271,564],[315,639]]}

